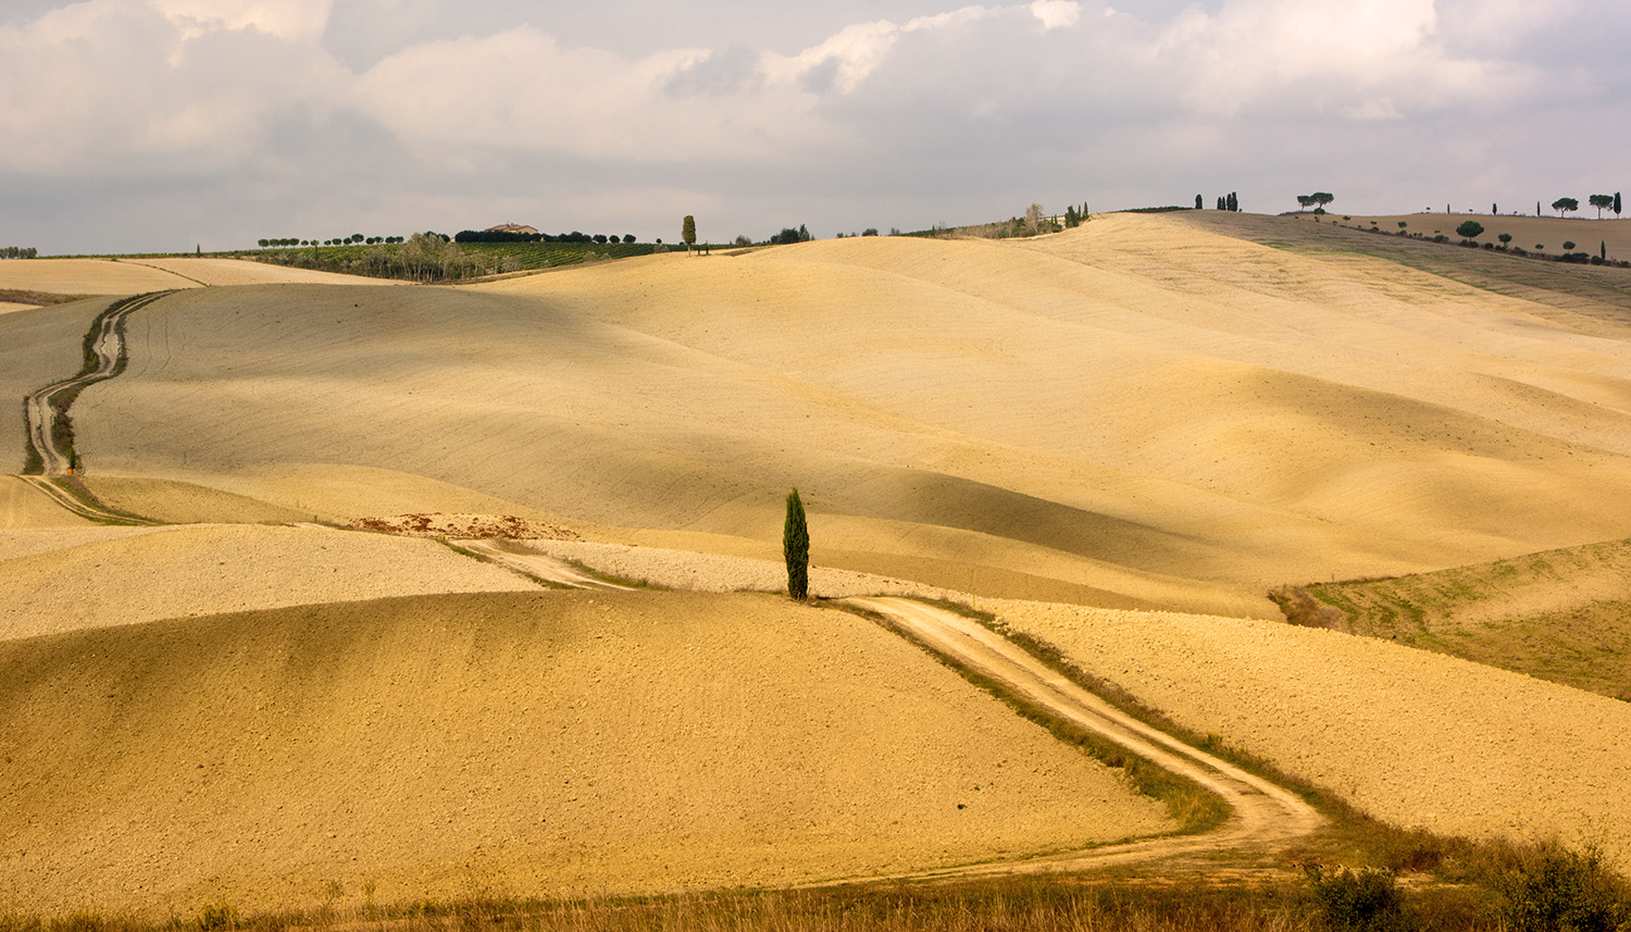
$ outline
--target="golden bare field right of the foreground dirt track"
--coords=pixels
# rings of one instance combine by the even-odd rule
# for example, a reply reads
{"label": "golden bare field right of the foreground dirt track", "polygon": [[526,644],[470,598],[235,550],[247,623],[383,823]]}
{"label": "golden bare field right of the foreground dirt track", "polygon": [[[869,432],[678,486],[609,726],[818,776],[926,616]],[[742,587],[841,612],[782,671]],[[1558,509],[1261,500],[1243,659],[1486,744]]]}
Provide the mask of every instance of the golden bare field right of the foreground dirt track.
{"label": "golden bare field right of the foreground dirt track", "polygon": [[1246,619],[985,604],[1179,725],[1403,826],[1597,842],[1631,868],[1631,703]]}

